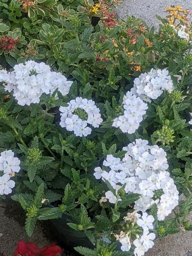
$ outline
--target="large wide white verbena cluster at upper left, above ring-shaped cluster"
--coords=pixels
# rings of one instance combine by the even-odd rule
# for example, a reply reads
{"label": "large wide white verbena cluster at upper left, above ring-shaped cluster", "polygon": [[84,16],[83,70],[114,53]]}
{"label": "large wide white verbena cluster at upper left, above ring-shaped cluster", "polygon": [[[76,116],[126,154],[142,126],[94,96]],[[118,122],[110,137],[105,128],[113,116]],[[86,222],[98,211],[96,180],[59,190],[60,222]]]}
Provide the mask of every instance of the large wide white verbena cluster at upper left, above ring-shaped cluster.
{"label": "large wide white verbena cluster at upper left, above ring-shaped cluster", "polygon": [[9,73],[0,70],[0,82],[6,83],[4,90],[13,91],[13,96],[21,106],[39,103],[43,93],[52,94],[56,89],[65,96],[73,83],[61,73],[52,72],[44,62],[33,60],[15,65]]}

